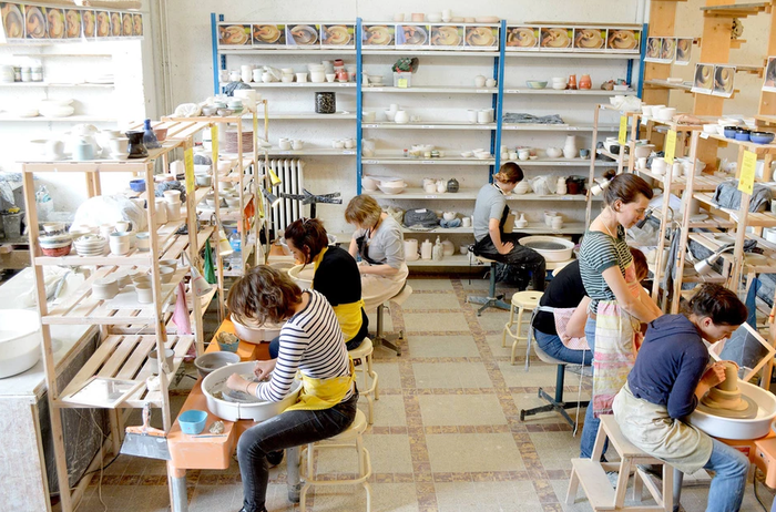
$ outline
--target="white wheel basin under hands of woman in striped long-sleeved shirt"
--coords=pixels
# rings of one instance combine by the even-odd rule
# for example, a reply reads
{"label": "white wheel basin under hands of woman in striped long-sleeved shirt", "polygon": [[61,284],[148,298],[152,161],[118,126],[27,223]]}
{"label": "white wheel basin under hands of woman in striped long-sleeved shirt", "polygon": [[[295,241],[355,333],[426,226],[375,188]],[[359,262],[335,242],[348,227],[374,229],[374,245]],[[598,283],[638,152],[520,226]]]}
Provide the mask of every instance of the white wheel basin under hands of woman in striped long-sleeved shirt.
{"label": "white wheel basin under hands of woman in striped long-sleeved shirt", "polygon": [[207,409],[213,414],[227,421],[265,421],[282,413],[286,408],[296,402],[299,390],[302,389],[300,380],[294,380],[290,392],[279,402],[238,403],[214,396],[214,393],[223,389],[224,381],[228,379],[232,373],[251,375],[253,373],[254,366],[254,361],[229,365],[214,370],[203,379],[202,391],[205,393]]}

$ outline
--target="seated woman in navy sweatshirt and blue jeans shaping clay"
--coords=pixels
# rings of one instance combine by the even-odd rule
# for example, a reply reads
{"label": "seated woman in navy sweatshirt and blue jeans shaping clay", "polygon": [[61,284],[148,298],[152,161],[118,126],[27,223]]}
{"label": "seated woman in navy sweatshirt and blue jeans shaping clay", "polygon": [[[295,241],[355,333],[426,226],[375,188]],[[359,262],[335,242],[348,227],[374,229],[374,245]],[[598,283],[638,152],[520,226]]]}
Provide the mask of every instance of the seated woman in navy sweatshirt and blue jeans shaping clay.
{"label": "seated woman in navy sweatshirt and blue jeans shaping clay", "polygon": [[746,306],[721,285],[703,285],[683,315],[650,322],[627,382],[612,409],[623,436],[684,473],[715,472],[707,512],[741,509],[749,461],[742,452],[683,421],[709,389],[725,380],[725,363],[708,365],[708,349],[746,321]]}

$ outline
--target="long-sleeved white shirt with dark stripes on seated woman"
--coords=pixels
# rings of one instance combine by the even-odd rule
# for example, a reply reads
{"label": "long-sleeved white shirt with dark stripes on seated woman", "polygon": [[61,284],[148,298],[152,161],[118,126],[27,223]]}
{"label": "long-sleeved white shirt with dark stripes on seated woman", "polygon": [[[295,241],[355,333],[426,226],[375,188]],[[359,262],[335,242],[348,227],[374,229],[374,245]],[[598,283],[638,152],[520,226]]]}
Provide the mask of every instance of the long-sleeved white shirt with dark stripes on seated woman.
{"label": "long-sleeved white shirt with dark stripes on seated woman", "polygon": [[[280,329],[280,349],[272,380],[256,389],[262,400],[283,400],[290,391],[297,370],[314,379],[350,375],[348,351],[334,309],[320,293],[305,293],[309,294],[309,304]],[[353,390],[344,400],[351,396]]]}

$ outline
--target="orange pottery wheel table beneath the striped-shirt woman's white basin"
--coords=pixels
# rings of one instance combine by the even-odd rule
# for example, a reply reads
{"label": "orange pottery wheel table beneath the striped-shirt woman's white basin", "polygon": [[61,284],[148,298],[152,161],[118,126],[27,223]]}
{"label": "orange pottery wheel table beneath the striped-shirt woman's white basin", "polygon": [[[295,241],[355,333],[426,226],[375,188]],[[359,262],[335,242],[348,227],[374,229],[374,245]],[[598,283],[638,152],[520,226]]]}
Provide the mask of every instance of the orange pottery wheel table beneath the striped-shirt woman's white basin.
{"label": "orange pottery wheel table beneath the striped-shirt woman's white basin", "polygon": [[[219,332],[234,334],[234,325],[229,320],[218,327],[206,352],[218,351],[218,344],[215,338]],[[269,359],[269,344],[247,344],[239,342],[237,355],[241,361],[266,360]],[[256,424],[253,420],[227,421],[222,420],[207,410],[207,401],[202,392],[202,378],[198,378],[192,388],[188,398],[183,403],[181,412],[197,409],[207,412],[205,432],[214,421],[224,422],[224,433],[217,437],[188,436],[181,431],[177,420],[173,423],[167,434],[167,446],[171,459],[167,462],[167,481],[170,484],[170,501],[175,512],[186,512],[188,502],[186,500],[186,470],[211,469],[225,470],[229,467],[232,453],[237,446],[237,440],[247,429]],[[178,413],[180,414],[180,413]],[[286,463],[288,467],[288,500],[296,503],[299,501],[299,448],[286,450]]]}

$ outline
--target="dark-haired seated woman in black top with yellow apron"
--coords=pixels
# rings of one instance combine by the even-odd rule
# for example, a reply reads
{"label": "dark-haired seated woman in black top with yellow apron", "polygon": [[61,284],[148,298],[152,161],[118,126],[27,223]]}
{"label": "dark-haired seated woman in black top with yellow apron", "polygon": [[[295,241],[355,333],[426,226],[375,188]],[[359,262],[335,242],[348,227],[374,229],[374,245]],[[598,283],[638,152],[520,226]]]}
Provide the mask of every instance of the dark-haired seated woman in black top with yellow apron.
{"label": "dark-haired seated woman in black top with yellow apron", "polygon": [[[369,319],[361,300],[361,276],[347,250],[328,245],[324,223],[317,218],[294,221],[284,234],[297,263],[313,264],[313,289],[320,291],[337,315],[348,350],[358,348],[367,336]],[[277,358],[280,338],[269,344],[269,357]]]}

